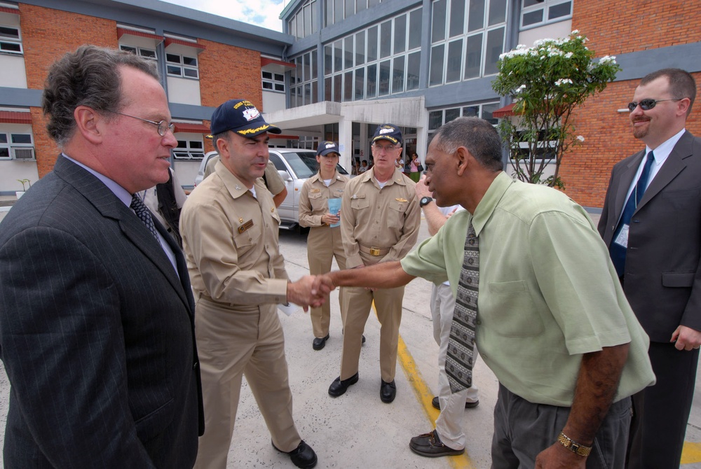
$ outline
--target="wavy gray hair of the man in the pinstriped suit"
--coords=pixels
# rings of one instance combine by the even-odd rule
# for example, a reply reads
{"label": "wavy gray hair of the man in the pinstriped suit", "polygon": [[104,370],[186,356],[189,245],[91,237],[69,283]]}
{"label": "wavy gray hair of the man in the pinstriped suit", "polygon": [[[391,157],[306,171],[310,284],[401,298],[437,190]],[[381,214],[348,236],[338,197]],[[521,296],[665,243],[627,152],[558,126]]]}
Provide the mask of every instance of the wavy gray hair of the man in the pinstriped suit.
{"label": "wavy gray hair of the man in the pinstriped suit", "polygon": [[122,90],[119,66],[130,66],[158,80],[153,61],[131,52],[81,45],[50,67],[41,99],[43,113],[49,116],[46,130],[63,147],[76,130],[74,111],[88,106],[97,112],[121,109]]}

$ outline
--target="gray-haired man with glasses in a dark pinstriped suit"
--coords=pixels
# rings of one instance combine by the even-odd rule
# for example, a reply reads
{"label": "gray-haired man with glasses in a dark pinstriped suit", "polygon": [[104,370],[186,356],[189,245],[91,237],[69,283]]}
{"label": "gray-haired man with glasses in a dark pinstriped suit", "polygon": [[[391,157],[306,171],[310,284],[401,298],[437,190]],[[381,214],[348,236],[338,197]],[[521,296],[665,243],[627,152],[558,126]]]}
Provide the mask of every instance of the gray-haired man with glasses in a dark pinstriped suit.
{"label": "gray-haired man with glasses in a dark pinstriped suit", "polygon": [[43,111],[62,154],[0,226],[4,463],[191,468],[202,412],[190,283],[133,196],[168,180],[177,146],[158,74],[82,46],[50,68]]}

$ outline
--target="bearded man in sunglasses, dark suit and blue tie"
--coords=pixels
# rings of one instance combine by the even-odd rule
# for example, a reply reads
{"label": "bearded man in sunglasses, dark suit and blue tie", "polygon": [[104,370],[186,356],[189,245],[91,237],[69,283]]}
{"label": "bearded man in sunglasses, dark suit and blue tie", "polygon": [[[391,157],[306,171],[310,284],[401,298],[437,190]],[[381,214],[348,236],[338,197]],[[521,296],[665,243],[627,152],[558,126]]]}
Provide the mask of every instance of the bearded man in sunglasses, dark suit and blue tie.
{"label": "bearded man in sunglasses, dark suit and blue tie", "polygon": [[685,130],[689,73],[645,76],[633,135],[646,148],[613,167],[599,232],[625,295],[650,336],[657,384],[633,397],[629,468],[679,467],[701,344],[701,139]]}

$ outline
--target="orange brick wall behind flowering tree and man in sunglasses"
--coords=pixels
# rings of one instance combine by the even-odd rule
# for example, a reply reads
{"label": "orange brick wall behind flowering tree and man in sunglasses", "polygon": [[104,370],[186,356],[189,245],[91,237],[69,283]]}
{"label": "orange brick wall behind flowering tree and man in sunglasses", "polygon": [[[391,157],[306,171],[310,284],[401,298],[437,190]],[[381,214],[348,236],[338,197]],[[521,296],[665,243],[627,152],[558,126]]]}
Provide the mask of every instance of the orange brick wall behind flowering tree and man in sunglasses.
{"label": "orange brick wall behind flowering tree and man in sunglasses", "polygon": [[[575,1],[572,27],[587,36],[587,47],[598,57],[701,41],[701,9],[681,0]],[[652,66],[652,65],[651,65]],[[653,71],[654,69],[651,69]],[[693,73],[697,85],[701,73]],[[644,149],[630,130],[629,113],[618,113],[633,97],[640,80],[611,83],[573,114],[582,145],[565,155],[560,176],[565,193],[585,207],[602,207],[611,168]],[[693,106],[686,129],[701,136],[700,103]]]}

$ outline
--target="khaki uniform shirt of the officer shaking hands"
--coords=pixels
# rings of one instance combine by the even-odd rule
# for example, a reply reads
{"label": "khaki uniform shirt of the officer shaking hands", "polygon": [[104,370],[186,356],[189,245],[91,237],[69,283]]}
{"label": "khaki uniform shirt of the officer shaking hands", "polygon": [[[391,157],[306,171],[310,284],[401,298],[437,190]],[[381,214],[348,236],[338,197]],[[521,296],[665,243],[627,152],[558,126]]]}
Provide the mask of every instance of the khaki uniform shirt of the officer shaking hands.
{"label": "khaki uniform shirt of the officer shaking hands", "polygon": [[193,293],[217,302],[251,305],[287,301],[285,260],[278,248],[280,218],[261,179],[256,197],[217,162],[193,190],[180,232]]}

